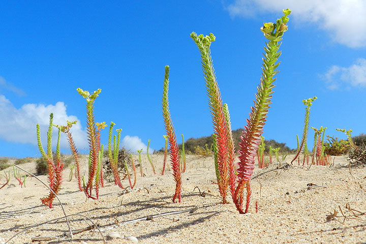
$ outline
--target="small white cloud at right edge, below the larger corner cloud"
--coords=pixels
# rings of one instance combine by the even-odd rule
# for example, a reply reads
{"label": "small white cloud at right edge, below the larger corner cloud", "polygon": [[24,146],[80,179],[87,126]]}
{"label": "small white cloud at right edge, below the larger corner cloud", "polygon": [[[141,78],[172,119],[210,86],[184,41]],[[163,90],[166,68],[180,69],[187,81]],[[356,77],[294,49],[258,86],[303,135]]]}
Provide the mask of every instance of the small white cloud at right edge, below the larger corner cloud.
{"label": "small white cloud at right edge, below the larger corner cloud", "polygon": [[341,88],[341,85],[366,88],[366,59],[358,58],[350,67],[332,66],[322,78],[331,90]]}

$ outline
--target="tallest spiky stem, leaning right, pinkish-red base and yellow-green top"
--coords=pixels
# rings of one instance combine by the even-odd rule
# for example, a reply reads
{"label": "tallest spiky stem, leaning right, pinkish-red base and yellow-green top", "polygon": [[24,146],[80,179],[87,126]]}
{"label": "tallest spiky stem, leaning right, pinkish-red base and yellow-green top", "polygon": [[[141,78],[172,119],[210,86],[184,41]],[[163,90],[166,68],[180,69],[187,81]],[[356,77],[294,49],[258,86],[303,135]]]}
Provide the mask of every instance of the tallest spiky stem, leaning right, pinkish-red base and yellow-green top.
{"label": "tallest spiky stem, leaning right, pinkish-red base and yellow-green top", "polygon": [[[264,23],[261,31],[264,37],[268,40],[264,47],[264,58],[262,67],[262,76],[260,85],[257,87],[256,101],[252,112],[247,119],[248,124],[243,131],[241,142],[239,143],[239,167],[238,172],[238,186],[233,197],[235,206],[240,214],[248,212],[250,198],[252,194],[250,180],[254,169],[254,157],[260,143],[260,136],[263,133],[263,126],[266,121],[269,105],[273,94],[273,82],[276,80],[274,76],[279,72],[276,69],[280,63],[277,63],[281,55],[279,51],[282,36],[287,31],[287,22],[291,10],[283,10],[284,16],[276,21],[276,23]],[[246,208],[243,209],[243,201],[246,195]]]}

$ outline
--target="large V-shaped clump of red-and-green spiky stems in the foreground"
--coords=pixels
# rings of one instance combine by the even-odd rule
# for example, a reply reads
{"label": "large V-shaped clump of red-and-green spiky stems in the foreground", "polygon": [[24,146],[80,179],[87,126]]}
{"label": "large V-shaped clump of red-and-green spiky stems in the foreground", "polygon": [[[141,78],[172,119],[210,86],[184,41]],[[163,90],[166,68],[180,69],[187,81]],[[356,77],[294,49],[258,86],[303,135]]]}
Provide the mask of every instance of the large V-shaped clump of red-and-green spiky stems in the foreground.
{"label": "large V-shaped clump of red-and-green spiky stems in the foreground", "polygon": [[[250,118],[247,119],[248,125],[245,127],[245,131],[243,131],[243,136],[241,136],[241,142],[239,143],[240,162],[238,163],[237,169],[233,162],[234,149],[232,147],[233,140],[230,137],[230,118],[228,113],[227,115],[225,114],[225,109],[223,108],[223,102],[210,56],[209,47],[211,42],[215,41],[216,38],[212,33],[209,36],[198,36],[196,33],[191,34],[192,39],[197,44],[201,53],[202,69],[206,81],[212,122],[214,124],[215,159],[217,160],[217,178],[220,195],[223,203],[227,203],[226,195],[230,185],[233,201],[240,214],[248,212],[252,193],[250,179],[254,169],[254,158],[261,141],[263,126],[271,103],[272,88],[275,87],[272,83],[276,80],[273,76],[278,73],[276,68],[279,66],[277,60],[281,55],[281,52],[279,52],[281,37],[287,31],[286,23],[289,20],[287,16],[291,11],[287,9],[283,10],[283,13],[284,16],[278,19],[275,24],[264,23],[264,26],[261,28],[261,31],[269,42],[264,47],[263,73],[260,85],[257,88],[256,101],[254,102],[254,107],[252,107]],[[238,179],[237,186],[235,187],[236,173]],[[247,205],[246,209],[243,210],[242,205],[245,198]]]}

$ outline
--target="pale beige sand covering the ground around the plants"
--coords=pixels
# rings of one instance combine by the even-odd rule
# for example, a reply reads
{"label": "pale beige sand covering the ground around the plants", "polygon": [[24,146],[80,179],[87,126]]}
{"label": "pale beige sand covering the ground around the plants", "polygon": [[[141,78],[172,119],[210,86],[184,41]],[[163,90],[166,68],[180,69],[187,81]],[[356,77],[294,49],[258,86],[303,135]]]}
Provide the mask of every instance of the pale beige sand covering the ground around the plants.
{"label": "pale beige sand covering the ground around the plants", "polygon": [[[163,156],[153,155],[151,159],[157,171],[161,170]],[[332,166],[284,167],[290,160],[288,156],[281,164],[255,169],[251,206],[245,215],[238,214],[232,201],[221,203],[212,157],[187,156],[181,203],[171,200],[175,189],[172,172],[154,175],[144,156],[146,176],[137,177],[133,190],[120,189],[110,182],[100,189],[99,200],[86,200],[85,194],[78,191],[75,177],[68,181],[67,168],[59,198],[68,215],[85,215],[99,224],[104,236],[110,232],[121,236],[108,239],[107,243],[133,243],[125,236],[136,237],[138,243],[366,243],[366,216],[345,221],[343,217],[327,219],[334,210],[339,211],[339,206],[345,215],[351,216],[346,210],[347,203],[352,209],[366,212],[366,170],[353,167],[350,173],[345,156],[334,157]],[[86,162],[83,157],[83,173],[87,170]],[[21,167],[36,171],[34,162]],[[47,182],[47,176],[40,178]],[[3,182],[4,177],[0,180]],[[308,188],[308,184],[324,187]],[[123,185],[129,185],[127,179]],[[198,189],[193,191],[195,187],[204,194],[200,195]],[[41,205],[40,198],[46,195],[48,189],[37,179],[28,178],[26,187],[20,188],[12,177],[10,186],[0,190],[0,243],[29,226],[63,217],[56,200],[53,209]],[[231,200],[230,195],[228,199]],[[147,218],[180,210],[187,211]],[[342,216],[340,212],[338,216]],[[143,219],[128,222],[140,218]],[[70,225],[73,231],[88,227],[77,216],[70,217]],[[66,222],[53,221],[29,228],[8,243],[31,243],[32,237],[37,236],[58,238],[37,243],[103,243],[98,231],[74,234],[71,240],[62,238],[65,233],[68,233]]]}

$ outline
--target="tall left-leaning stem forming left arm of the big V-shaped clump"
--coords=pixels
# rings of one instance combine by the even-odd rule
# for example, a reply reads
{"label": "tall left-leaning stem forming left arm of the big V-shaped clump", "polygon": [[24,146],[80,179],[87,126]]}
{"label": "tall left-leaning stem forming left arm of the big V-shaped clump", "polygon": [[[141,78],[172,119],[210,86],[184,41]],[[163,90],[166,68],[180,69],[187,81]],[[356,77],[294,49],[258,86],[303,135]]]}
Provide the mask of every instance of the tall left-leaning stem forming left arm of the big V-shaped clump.
{"label": "tall left-leaning stem forming left arm of the big V-shaped clump", "polygon": [[217,164],[220,172],[220,181],[218,182],[219,191],[223,203],[228,203],[226,200],[230,176],[229,176],[229,138],[226,116],[221,98],[218,82],[216,80],[214,65],[212,64],[210,45],[216,40],[214,34],[209,36],[197,35],[191,33],[191,38],[196,43],[201,53],[201,64],[206,82],[208,106],[211,110],[212,123],[214,124],[214,134],[217,140]]}

